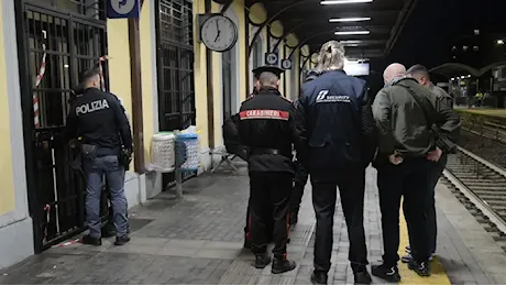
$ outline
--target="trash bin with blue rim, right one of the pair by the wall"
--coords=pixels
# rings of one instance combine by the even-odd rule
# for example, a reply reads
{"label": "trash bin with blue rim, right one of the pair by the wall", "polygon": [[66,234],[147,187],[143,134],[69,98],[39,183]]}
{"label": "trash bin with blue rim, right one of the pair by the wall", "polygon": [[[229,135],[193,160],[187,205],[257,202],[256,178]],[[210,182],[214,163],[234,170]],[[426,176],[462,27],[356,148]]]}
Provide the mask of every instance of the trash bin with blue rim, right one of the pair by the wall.
{"label": "trash bin with blue rim, right one of the pair by the wall", "polygon": [[183,162],[180,170],[197,172],[200,165],[198,135],[196,133],[179,133],[176,135],[176,144],[183,147],[183,150],[176,154],[176,156],[182,157],[177,160],[178,162]]}

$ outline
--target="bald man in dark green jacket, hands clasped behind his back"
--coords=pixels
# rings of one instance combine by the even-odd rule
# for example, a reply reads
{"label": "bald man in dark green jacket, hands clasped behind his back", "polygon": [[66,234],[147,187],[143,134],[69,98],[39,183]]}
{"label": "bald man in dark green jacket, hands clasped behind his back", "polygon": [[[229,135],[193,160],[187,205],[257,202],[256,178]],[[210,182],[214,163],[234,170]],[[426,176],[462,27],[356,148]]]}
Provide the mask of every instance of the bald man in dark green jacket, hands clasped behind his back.
{"label": "bald man in dark green jacket, hands clasped behind his back", "polygon": [[[382,211],[383,264],[372,267],[373,275],[396,283],[399,256],[399,208],[404,197],[405,217],[410,233],[413,257],[409,268],[429,276],[427,217],[429,158],[439,161],[441,151],[430,131],[430,118],[438,118],[431,105],[433,95],[410,77],[400,64],[392,64],[383,74],[385,88],[376,96],[373,114],[380,132],[377,187]],[[426,110],[430,110],[427,118]]]}

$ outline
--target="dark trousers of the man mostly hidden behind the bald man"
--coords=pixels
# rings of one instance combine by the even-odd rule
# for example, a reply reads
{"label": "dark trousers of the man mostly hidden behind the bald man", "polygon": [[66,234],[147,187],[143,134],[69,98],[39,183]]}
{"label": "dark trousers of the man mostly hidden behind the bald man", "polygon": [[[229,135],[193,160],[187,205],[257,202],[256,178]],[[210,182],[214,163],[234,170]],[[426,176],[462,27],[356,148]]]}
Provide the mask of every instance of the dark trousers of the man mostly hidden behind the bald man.
{"label": "dark trousers of the man mostly hidden behind the bald man", "polygon": [[[436,253],[436,246],[438,241],[438,221],[436,217],[436,185],[438,185],[439,177],[441,177],[444,167],[447,166],[448,156],[443,154],[439,162],[429,162],[429,182],[427,191],[427,231],[429,234],[429,253]],[[403,210],[406,212],[406,204],[403,204]],[[411,243],[411,237],[409,238]]]}

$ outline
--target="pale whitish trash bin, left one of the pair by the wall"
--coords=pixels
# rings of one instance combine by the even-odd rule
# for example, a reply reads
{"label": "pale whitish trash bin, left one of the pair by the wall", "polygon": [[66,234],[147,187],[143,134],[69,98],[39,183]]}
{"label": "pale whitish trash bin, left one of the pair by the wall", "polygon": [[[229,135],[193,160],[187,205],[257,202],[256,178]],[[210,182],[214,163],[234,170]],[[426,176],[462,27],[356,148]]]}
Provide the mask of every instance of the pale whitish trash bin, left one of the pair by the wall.
{"label": "pale whitish trash bin, left one of the pair by the wall", "polygon": [[176,167],[175,139],[172,132],[162,132],[153,135],[152,163],[156,172],[170,173]]}

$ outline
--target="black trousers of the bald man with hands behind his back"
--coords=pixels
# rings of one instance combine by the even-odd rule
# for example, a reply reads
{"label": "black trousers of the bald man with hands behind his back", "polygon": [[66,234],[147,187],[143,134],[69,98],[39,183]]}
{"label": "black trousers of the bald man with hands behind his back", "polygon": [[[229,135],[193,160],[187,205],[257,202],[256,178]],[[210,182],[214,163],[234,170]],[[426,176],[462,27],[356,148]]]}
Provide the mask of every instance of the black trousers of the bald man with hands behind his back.
{"label": "black trousers of the bald man with hands behind his back", "polygon": [[411,238],[411,255],[417,262],[429,257],[427,228],[427,197],[429,193],[430,162],[425,157],[405,158],[397,166],[384,163],[377,166],[377,187],[383,228],[383,262],[397,264],[399,256],[399,208],[404,197],[404,216]]}

